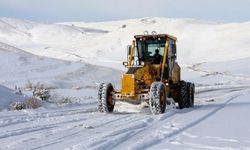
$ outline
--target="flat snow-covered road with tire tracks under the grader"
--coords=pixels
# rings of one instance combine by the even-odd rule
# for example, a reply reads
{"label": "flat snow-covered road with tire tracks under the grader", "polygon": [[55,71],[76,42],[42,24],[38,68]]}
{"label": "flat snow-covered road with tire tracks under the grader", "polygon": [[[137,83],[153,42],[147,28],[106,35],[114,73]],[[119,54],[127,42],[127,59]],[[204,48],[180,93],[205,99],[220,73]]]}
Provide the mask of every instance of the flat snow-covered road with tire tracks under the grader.
{"label": "flat snow-covered road with tire tracks under the grader", "polygon": [[162,115],[121,103],[113,114],[96,103],[1,112],[1,149],[249,149],[250,89],[200,89],[194,108]]}

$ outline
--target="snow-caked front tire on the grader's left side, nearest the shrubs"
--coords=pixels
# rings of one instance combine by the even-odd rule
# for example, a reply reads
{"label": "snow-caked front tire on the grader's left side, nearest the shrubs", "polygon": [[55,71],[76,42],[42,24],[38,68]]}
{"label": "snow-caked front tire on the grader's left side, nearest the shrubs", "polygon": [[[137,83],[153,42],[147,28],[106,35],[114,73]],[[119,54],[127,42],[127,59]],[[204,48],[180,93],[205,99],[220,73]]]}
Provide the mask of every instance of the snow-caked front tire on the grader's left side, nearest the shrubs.
{"label": "snow-caked front tire on the grader's left side, nearest the shrubs", "polygon": [[98,90],[98,110],[99,112],[113,112],[115,101],[113,99],[114,88],[111,83],[102,83]]}

